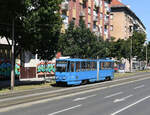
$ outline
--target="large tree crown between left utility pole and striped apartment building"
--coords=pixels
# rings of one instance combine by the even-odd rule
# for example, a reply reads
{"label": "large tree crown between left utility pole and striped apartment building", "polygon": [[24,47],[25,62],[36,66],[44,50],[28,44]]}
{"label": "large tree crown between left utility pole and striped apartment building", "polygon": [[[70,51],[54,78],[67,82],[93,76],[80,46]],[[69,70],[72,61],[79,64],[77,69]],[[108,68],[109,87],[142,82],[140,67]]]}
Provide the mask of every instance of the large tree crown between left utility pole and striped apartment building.
{"label": "large tree crown between left utility pole and striped apartment building", "polygon": [[27,33],[27,50],[37,53],[41,59],[52,59],[57,51],[57,43],[61,29],[59,4],[61,0],[26,0],[28,8],[24,18]]}

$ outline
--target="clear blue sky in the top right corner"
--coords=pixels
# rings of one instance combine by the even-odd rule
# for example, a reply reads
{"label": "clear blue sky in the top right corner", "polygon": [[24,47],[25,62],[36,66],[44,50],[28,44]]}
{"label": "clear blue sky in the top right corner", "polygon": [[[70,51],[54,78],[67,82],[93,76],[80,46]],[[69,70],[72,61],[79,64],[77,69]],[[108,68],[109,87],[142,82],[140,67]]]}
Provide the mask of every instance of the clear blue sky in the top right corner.
{"label": "clear blue sky in the top right corner", "polygon": [[150,41],[150,0],[122,0],[129,5],[130,9],[137,15],[146,27],[147,39]]}

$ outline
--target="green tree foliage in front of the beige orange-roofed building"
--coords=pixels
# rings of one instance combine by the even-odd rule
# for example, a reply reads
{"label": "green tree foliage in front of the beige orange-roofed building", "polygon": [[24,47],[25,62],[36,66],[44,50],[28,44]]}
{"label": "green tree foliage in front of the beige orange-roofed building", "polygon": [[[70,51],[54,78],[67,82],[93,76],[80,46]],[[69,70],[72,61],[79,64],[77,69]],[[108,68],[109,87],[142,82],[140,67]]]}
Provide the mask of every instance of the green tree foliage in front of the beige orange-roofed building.
{"label": "green tree foliage in front of the beige orange-roofed building", "polygon": [[[138,60],[145,60],[145,43],[146,35],[143,33],[134,32],[127,40],[119,39],[114,43],[109,43],[111,56],[120,60],[121,58],[130,59],[131,43],[132,57],[136,56]],[[132,41],[131,41],[132,40]],[[113,46],[113,48],[111,48]]]}

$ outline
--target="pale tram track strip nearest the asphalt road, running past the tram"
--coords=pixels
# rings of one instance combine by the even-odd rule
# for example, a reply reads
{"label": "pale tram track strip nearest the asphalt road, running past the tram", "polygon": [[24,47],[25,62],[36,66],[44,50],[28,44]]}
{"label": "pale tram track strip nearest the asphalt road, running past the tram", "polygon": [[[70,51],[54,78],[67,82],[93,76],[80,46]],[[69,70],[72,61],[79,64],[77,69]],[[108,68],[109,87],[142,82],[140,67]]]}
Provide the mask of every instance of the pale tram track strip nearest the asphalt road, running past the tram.
{"label": "pale tram track strip nearest the asphalt road, running past the tram", "polygon": [[14,105],[19,105],[19,104],[25,104],[25,103],[31,103],[39,100],[44,100],[44,99],[55,99],[56,97],[64,97],[65,96],[73,96],[77,95],[79,93],[86,93],[88,91],[94,90],[100,90],[104,88],[109,88],[109,87],[115,87],[117,85],[122,85],[122,84],[127,84],[135,81],[140,81],[143,79],[150,79],[150,75],[139,75],[139,77],[131,77],[131,78],[124,78],[124,79],[117,79],[113,81],[107,81],[107,82],[100,82],[100,83],[95,83],[95,84],[89,84],[89,85],[82,85],[82,86],[77,86],[77,87],[70,87],[70,88],[64,88],[64,89],[57,89],[57,90],[52,90],[48,92],[40,92],[37,94],[29,94],[29,95],[24,95],[24,96],[18,96],[18,97],[12,97],[12,98],[5,98],[0,100],[0,109],[1,108],[6,108],[6,107],[11,107]]}

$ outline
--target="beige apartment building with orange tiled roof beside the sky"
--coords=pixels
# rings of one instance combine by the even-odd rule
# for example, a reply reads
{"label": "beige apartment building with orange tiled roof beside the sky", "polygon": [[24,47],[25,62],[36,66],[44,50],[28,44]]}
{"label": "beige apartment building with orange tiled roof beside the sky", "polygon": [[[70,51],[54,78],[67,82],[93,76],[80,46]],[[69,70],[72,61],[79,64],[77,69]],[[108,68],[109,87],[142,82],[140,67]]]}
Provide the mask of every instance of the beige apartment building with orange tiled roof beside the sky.
{"label": "beige apartment building with orange tiled roof beside the sky", "polygon": [[112,0],[110,13],[110,35],[118,39],[127,39],[133,31],[146,33],[146,28],[136,14],[118,0]]}

